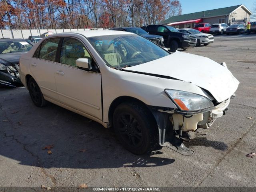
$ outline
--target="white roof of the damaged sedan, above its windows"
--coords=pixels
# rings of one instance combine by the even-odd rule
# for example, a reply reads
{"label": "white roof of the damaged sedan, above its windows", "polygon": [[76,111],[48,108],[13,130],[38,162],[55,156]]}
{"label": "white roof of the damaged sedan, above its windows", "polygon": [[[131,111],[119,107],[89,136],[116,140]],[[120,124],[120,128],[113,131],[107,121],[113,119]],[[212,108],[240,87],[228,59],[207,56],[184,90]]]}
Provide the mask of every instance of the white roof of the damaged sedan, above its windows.
{"label": "white roof of the damaged sedan, above its windows", "polygon": [[54,37],[59,35],[67,35],[67,34],[81,34],[85,37],[96,37],[96,36],[105,36],[105,35],[135,35],[134,33],[126,32],[126,31],[115,31],[115,30],[90,30],[90,31],[74,31],[74,32],[64,32],[53,34],[48,37]]}

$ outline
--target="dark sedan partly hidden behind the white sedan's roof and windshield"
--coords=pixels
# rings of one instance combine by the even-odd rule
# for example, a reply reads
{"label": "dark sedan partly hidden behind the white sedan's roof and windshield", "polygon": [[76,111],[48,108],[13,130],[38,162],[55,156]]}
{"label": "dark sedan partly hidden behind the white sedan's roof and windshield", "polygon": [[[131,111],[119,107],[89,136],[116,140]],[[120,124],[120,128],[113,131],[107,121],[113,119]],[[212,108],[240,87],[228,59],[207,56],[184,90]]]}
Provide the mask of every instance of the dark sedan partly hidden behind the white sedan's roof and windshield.
{"label": "dark sedan partly hidden behind the white sedan's roof and windshield", "polygon": [[135,33],[137,35],[140,35],[142,37],[149,39],[150,41],[152,41],[160,46],[164,46],[164,38],[162,36],[150,35],[146,31],[144,31],[143,29],[138,28],[138,27],[120,27],[120,28],[112,28],[110,30],[127,31],[127,32]]}

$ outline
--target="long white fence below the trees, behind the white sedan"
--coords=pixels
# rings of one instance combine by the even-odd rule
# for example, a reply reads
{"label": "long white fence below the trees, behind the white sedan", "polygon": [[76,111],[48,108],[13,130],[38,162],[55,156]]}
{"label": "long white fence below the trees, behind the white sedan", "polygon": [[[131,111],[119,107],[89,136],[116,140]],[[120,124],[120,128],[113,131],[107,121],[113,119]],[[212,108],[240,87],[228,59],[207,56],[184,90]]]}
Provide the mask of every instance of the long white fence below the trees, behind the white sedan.
{"label": "long white fence below the trees, behind the white sedan", "polygon": [[[0,38],[22,38],[27,39],[28,36],[41,35],[43,33],[63,33],[71,31],[87,31],[92,29],[1,29]],[[93,30],[103,30],[103,28],[93,29]]]}

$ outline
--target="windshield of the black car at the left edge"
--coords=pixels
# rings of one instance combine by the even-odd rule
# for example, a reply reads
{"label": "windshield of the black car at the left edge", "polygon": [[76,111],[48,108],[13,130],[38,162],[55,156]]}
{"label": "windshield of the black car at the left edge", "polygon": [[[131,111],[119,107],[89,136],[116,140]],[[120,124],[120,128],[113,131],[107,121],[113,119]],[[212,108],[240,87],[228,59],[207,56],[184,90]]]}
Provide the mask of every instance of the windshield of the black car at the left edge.
{"label": "windshield of the black car at the left edge", "polygon": [[0,41],[0,54],[29,51],[32,45],[24,40]]}

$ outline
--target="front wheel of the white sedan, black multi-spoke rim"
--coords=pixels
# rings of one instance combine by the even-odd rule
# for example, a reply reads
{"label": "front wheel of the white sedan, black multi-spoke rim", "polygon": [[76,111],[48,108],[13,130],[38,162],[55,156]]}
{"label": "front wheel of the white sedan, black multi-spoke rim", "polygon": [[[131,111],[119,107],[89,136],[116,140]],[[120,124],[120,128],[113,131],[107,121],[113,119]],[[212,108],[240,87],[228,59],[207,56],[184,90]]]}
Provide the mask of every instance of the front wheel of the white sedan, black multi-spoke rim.
{"label": "front wheel of the white sedan, black multi-spoke rim", "polygon": [[154,116],[142,104],[125,102],[117,106],[113,125],[118,139],[130,152],[144,154],[158,143],[158,129]]}

